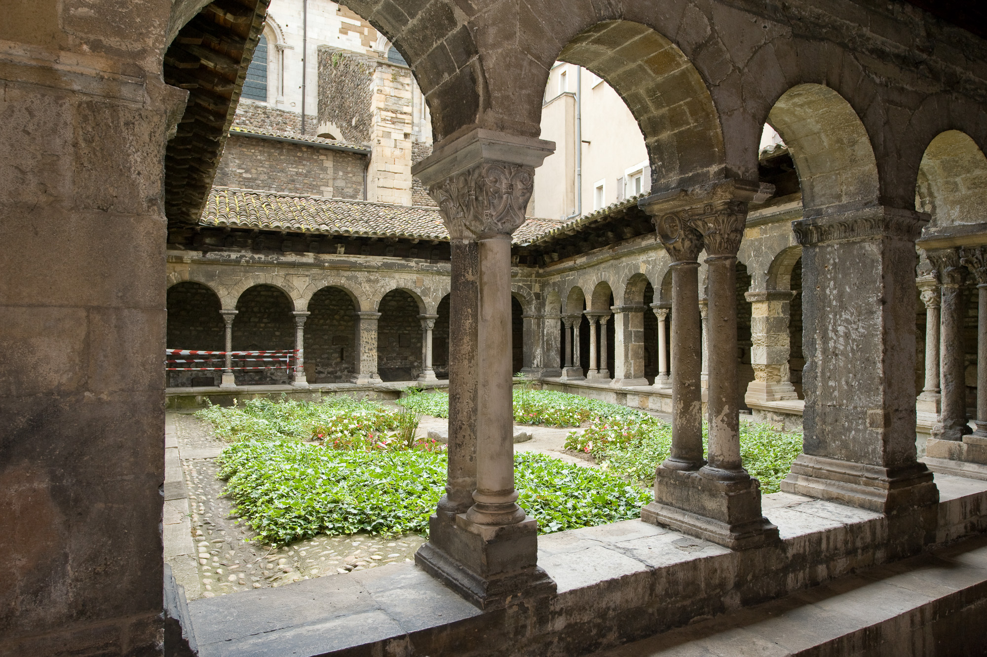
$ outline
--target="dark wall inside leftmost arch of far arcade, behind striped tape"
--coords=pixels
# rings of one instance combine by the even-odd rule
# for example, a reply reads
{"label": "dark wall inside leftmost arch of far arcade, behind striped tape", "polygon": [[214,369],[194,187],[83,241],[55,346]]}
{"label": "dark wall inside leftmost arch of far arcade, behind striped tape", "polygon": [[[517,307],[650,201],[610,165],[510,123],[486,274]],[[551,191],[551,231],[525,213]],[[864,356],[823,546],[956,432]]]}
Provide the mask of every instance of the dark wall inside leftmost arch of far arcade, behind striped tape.
{"label": "dark wall inside leftmost arch of far arcade, behind striped tape", "polygon": [[[222,351],[226,346],[225,326],[219,314],[219,297],[205,285],[185,282],[168,288],[169,349]],[[218,386],[220,378],[219,372],[172,371],[168,372],[168,387]]]}

